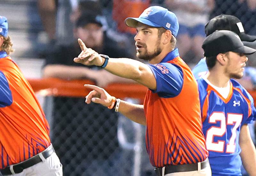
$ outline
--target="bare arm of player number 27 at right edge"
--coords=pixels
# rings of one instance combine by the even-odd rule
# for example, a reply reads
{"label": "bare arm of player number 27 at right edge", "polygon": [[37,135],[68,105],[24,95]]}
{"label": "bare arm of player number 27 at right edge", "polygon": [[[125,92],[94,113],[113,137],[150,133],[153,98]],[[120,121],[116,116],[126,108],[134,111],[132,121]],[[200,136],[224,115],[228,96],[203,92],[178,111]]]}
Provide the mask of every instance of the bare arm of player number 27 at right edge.
{"label": "bare arm of player number 27 at right edge", "polygon": [[239,145],[242,150],[240,156],[245,170],[250,176],[255,176],[256,150],[255,146],[253,145],[249,127],[247,124],[241,127],[239,135]]}

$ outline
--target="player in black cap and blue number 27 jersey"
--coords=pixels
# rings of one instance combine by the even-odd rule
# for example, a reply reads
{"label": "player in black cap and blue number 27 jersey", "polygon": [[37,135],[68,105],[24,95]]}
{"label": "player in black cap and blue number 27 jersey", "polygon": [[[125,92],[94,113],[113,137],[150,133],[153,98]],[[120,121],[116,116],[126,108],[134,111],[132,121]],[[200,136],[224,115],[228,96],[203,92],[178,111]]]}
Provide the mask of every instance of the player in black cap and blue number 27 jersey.
{"label": "player in black cap and blue number 27 jersey", "polygon": [[212,175],[242,175],[242,162],[255,175],[256,150],[248,123],[255,120],[256,109],[252,96],[234,78],[242,78],[245,54],[256,50],[227,30],[210,34],[202,48],[209,72],[197,82]]}

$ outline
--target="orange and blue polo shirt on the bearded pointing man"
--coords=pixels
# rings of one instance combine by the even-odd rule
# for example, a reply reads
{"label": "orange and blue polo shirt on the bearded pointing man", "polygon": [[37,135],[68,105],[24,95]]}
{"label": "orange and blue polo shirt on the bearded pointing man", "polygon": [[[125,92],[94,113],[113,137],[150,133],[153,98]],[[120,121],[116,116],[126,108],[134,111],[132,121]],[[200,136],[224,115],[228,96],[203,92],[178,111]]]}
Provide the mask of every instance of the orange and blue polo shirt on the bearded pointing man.
{"label": "orange and blue polo shirt on the bearded pointing man", "polygon": [[208,156],[202,131],[197,82],[178,49],[154,65],[156,90],[148,89],[146,149],[155,167],[204,161]]}

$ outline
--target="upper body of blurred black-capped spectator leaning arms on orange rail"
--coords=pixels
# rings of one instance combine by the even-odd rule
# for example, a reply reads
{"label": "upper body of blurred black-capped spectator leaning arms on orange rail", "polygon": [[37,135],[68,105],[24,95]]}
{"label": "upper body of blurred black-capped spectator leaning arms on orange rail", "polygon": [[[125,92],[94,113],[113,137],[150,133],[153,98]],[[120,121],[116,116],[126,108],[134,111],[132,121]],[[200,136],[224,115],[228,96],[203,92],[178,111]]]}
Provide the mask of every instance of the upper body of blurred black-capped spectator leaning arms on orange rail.
{"label": "upper body of blurred black-capped spectator leaning arms on orange rail", "polygon": [[[81,67],[73,61],[79,55],[81,49],[77,43],[80,38],[86,42],[87,47],[93,48],[98,53],[104,53],[110,57],[130,57],[124,50],[118,47],[117,43],[110,39],[103,30],[101,16],[96,13],[84,13],[76,22],[74,29],[75,40],[71,45],[59,46],[46,60],[44,77],[56,77],[60,79],[92,79],[98,85],[106,86],[108,83],[131,82],[118,76],[113,76],[105,70],[91,70],[88,67]],[[104,76],[103,76],[104,75]]]}

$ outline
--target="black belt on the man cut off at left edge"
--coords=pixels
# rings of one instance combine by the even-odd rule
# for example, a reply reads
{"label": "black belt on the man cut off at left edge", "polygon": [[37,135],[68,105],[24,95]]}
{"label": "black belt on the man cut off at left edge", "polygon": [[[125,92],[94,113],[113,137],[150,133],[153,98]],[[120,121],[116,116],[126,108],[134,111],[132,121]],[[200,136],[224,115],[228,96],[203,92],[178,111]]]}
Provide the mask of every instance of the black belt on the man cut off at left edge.
{"label": "black belt on the man cut off at left edge", "polygon": [[[50,145],[47,149],[45,149],[44,151],[42,151],[42,155],[43,157],[46,159],[48,158],[49,156],[51,156],[51,154],[55,152],[52,145]],[[25,160],[25,161],[22,161],[18,164],[14,164],[13,165],[13,171],[15,173],[20,173],[22,172],[24,169],[28,168],[28,167],[31,167],[37,163],[40,163],[42,161],[42,159],[39,157],[39,154]],[[0,169],[0,173],[2,173],[2,175],[12,175],[12,172],[10,170],[10,166],[7,166],[6,168],[4,169]]]}

